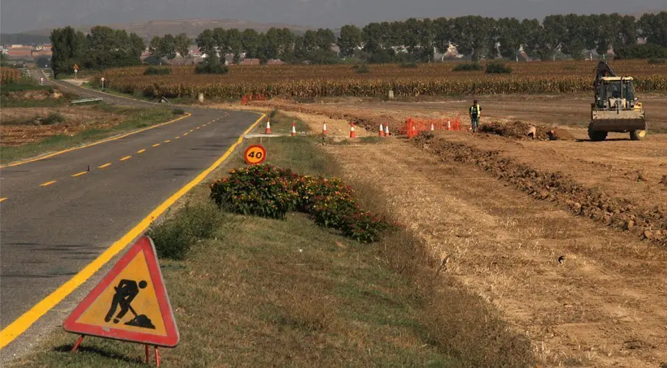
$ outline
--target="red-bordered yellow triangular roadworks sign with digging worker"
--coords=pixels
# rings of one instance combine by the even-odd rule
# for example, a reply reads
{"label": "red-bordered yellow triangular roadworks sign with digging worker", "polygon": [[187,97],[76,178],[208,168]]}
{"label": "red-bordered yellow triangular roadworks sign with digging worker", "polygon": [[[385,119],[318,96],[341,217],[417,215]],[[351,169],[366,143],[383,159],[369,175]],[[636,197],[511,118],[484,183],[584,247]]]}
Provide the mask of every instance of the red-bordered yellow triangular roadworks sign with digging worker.
{"label": "red-bordered yellow triangular roadworks sign with digging worker", "polygon": [[173,347],[179,330],[151,238],[141,237],[63,322],[65,331]]}

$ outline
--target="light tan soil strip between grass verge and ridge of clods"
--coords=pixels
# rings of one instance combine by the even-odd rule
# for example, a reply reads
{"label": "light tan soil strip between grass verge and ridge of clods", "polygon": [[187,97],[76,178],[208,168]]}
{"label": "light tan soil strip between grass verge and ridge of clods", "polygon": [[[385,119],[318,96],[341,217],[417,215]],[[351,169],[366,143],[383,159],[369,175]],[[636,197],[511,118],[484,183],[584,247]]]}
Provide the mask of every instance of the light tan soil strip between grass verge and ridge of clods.
{"label": "light tan soil strip between grass verge and ridge of clods", "polygon": [[352,181],[378,183],[399,220],[451,257],[447,273],[501,308],[545,364],[667,361],[661,249],[498,185],[466,155],[443,160],[400,142],[326,149]]}

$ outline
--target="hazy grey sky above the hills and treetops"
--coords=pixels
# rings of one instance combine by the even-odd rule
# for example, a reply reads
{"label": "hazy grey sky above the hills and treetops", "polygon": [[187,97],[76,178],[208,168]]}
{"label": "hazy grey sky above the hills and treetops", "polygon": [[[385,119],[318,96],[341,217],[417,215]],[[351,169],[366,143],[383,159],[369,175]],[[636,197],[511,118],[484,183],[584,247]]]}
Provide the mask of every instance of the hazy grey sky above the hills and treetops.
{"label": "hazy grey sky above the hills and treetops", "polygon": [[536,17],[667,9],[667,0],[1,0],[0,30],[150,19],[242,19],[338,28],[409,17]]}

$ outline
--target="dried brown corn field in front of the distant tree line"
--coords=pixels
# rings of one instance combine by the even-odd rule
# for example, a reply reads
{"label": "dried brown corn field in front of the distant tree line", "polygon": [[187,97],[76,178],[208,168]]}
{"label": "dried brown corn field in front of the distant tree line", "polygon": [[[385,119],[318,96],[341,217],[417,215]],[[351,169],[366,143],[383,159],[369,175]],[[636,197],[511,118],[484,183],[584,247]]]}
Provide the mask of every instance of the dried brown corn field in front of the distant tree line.
{"label": "dried brown corn field in front of the distant tree line", "polygon": [[[144,76],[145,67],[110,69],[106,85],[147,97],[241,99],[245,94],[266,97],[372,97],[393,90],[397,96],[443,94],[561,94],[590,92],[597,62],[512,62],[511,74],[452,72],[455,63],[369,65],[357,74],[352,65],[233,65],[229,74],[195,75],[194,67],[171,67],[167,76]],[[645,60],[613,62],[620,75],[636,79],[637,92],[667,92],[667,65]],[[101,75],[100,75],[101,76]]]}

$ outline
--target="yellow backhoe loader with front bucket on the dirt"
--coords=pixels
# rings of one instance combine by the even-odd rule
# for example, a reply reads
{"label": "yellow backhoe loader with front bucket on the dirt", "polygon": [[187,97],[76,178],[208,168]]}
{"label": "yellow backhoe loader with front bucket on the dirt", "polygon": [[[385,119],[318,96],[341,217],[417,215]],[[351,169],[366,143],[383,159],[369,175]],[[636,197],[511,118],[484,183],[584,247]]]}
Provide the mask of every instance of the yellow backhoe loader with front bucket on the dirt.
{"label": "yellow backhoe loader with front bucket on the dirt", "polygon": [[591,103],[591,123],[588,124],[591,140],[604,140],[609,132],[630,133],[632,140],[645,136],[644,110],[634,94],[633,83],[632,77],[616,76],[606,61],[598,63],[593,82],[595,102]]}

